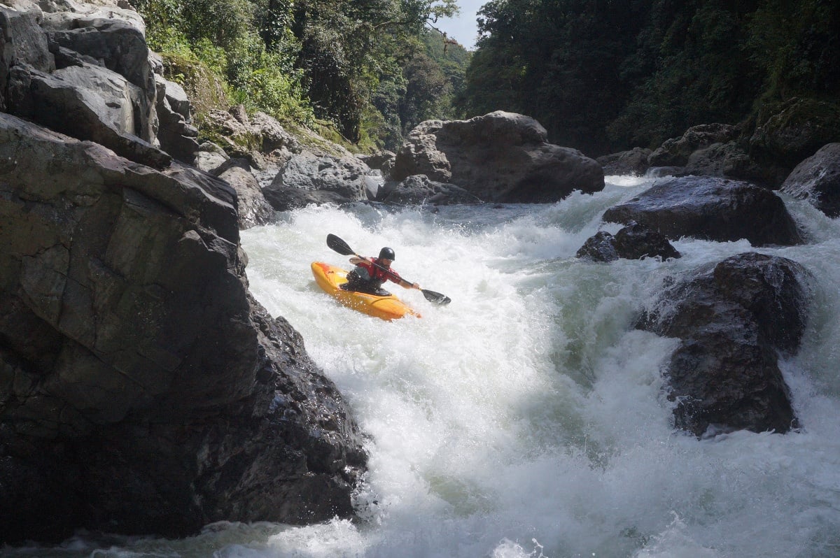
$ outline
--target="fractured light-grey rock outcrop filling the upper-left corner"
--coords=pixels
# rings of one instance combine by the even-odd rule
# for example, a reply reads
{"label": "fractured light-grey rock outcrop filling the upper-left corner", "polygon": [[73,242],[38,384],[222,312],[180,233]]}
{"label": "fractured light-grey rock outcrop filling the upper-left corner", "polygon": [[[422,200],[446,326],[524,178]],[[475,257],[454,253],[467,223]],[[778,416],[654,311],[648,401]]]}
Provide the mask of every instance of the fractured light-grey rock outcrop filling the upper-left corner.
{"label": "fractured light-grey rock outcrop filling the upper-left corner", "polygon": [[[165,168],[155,147],[155,74],[136,12],[18,0],[0,7],[3,110]],[[129,14],[134,14],[131,16]]]}

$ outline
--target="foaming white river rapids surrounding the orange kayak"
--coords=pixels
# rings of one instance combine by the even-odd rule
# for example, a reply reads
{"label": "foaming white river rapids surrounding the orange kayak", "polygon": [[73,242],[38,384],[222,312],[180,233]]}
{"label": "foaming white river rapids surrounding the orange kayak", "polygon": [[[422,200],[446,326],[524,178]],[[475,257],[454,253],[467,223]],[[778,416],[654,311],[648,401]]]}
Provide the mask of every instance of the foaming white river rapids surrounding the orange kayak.
{"label": "foaming white river rapids surrounding the orange kayak", "polygon": [[[3,555],[268,558],[840,556],[840,220],[785,198],[808,243],[673,242],[683,258],[591,263],[601,215],[652,179],[607,177],[549,205],[310,206],[243,232],[250,289],[300,331],[366,434],[360,519],[220,523],[184,540],[80,534]],[[423,317],[339,305],[309,265],[396,251],[386,284]],[[800,431],[697,440],[663,396],[674,339],[633,323],[667,278],[755,250],[816,276],[800,352],[781,362]]]}

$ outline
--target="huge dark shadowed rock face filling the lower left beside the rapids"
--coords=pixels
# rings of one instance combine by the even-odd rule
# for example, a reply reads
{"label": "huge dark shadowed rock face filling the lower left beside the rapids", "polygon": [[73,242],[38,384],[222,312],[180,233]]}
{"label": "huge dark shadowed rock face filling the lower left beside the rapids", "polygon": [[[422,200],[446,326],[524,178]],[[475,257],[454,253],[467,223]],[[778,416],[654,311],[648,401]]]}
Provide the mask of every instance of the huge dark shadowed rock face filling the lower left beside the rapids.
{"label": "huge dark shadowed rock face filling the lower left beside the rapids", "polygon": [[353,513],[356,427],[249,297],[234,207],[0,114],[0,544]]}

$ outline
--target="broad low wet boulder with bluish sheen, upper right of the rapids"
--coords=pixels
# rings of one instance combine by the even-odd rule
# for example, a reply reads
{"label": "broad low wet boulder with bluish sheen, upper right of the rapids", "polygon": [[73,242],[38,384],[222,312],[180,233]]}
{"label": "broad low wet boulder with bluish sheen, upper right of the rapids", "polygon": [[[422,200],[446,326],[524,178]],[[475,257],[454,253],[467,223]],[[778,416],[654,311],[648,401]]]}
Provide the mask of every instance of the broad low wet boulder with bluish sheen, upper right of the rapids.
{"label": "broad low wet boulder with bluish sheen, upper right of the rapids", "polygon": [[747,182],[687,176],[664,180],[604,213],[604,221],[638,222],[666,237],[718,242],[746,238],[753,246],[801,243],[779,196]]}

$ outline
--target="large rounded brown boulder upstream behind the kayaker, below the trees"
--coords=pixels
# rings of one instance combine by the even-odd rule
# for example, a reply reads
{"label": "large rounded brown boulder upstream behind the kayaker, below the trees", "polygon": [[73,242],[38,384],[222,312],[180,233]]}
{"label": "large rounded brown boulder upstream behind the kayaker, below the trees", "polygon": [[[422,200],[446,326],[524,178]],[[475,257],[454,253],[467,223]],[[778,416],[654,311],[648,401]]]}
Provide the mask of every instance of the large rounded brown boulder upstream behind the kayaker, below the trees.
{"label": "large rounded brown boulder upstream behind the kayaker, below the trees", "polygon": [[391,178],[426,175],[484,201],[559,201],[574,190],[603,190],[604,172],[576,149],[546,141],[531,117],[491,112],[470,120],[421,123],[408,134]]}

